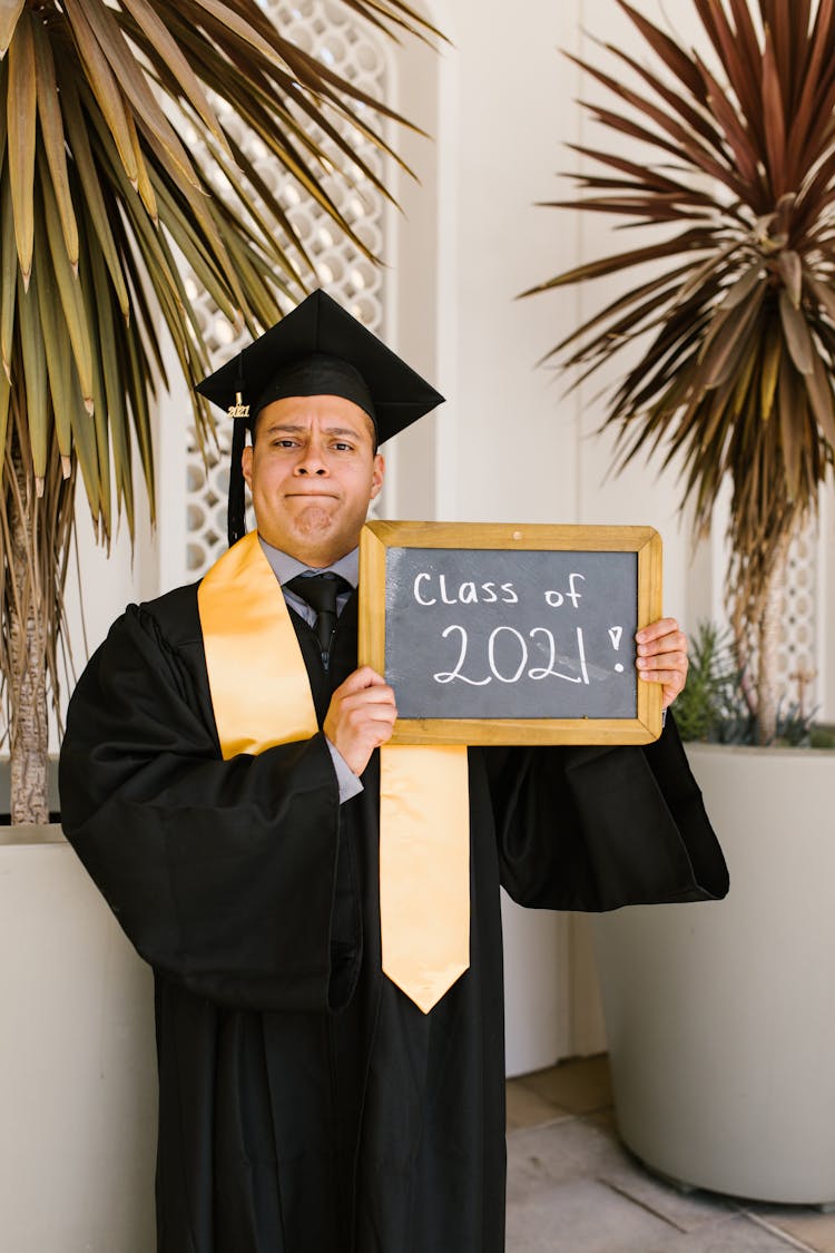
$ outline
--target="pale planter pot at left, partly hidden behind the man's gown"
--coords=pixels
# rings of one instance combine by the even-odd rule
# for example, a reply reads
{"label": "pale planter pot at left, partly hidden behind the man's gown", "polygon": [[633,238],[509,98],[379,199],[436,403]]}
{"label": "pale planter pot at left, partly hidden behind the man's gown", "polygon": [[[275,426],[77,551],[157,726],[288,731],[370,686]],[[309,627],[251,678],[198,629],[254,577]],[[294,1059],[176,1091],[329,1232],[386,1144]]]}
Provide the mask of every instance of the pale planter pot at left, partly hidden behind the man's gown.
{"label": "pale planter pot at left, partly hidden behind the man's gown", "polygon": [[149,1253],[150,971],[58,826],[0,827],[0,1244]]}

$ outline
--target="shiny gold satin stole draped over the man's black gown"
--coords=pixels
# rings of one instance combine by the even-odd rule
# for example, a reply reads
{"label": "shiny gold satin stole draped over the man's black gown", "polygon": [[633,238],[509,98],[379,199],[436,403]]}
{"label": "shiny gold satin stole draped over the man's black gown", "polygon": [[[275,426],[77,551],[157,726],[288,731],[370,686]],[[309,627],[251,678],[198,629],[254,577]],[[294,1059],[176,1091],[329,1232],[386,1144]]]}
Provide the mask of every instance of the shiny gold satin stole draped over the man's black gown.
{"label": "shiny gold satin stole draped over the man's black gown", "polygon": [[[198,608],[224,759],[314,736],[302,650],[255,531],[212,566]],[[387,744],[379,792],[383,971],[428,1014],[469,965],[467,749]]]}

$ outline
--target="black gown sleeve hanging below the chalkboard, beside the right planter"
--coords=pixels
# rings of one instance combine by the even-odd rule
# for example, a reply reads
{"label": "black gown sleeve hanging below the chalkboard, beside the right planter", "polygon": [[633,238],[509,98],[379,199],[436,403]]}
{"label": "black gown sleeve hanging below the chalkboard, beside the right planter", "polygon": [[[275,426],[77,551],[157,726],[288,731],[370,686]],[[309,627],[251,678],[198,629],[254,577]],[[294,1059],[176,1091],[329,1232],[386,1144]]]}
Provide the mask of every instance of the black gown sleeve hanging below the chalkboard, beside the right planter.
{"label": "black gown sleeve hanging below the chalkboard, beside the right planter", "polygon": [[491,753],[502,883],[520,905],[596,912],[727,893],[725,858],[670,714],[642,748]]}

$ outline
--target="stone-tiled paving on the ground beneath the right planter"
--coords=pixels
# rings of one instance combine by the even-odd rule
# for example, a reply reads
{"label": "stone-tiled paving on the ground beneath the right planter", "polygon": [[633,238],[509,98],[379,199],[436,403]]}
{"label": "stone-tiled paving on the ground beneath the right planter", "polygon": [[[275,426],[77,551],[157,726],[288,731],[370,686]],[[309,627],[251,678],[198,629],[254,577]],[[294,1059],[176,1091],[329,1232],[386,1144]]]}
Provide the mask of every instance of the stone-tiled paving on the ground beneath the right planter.
{"label": "stone-tiled paving on the ground beneath the right planter", "polygon": [[646,1170],[617,1139],[606,1058],[510,1080],[507,1130],[507,1253],[835,1253],[835,1214]]}

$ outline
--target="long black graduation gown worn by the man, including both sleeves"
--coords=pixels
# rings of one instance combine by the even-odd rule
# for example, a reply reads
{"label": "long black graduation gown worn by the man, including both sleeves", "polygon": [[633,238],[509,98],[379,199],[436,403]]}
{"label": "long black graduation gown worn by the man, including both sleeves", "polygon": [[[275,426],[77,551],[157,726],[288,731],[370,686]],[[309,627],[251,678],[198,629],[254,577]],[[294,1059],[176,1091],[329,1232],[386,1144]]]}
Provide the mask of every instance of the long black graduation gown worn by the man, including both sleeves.
{"label": "long black graduation gown worn by the man, including both sleeves", "polygon": [[[356,598],[329,675],[292,618],[322,720]],[[472,961],[424,1015],[381,974],[377,754],[343,806],[322,732],[224,762],[197,586],[114,624],[70,703],[61,813],[155,972],[159,1253],[503,1249],[499,880],[597,910],[727,877],[672,728],[471,749],[469,776]]]}

